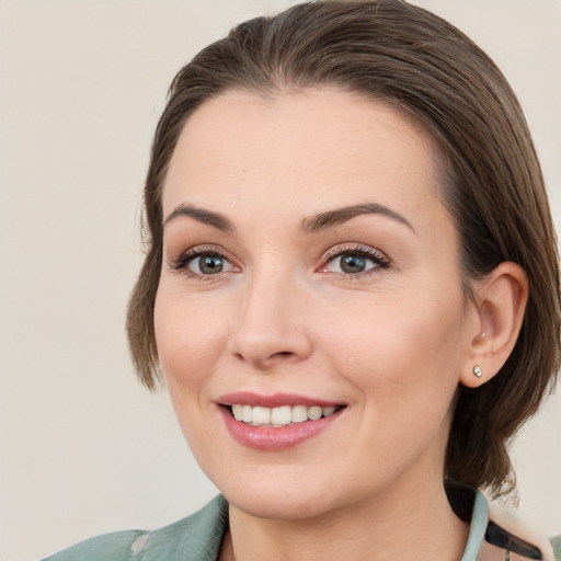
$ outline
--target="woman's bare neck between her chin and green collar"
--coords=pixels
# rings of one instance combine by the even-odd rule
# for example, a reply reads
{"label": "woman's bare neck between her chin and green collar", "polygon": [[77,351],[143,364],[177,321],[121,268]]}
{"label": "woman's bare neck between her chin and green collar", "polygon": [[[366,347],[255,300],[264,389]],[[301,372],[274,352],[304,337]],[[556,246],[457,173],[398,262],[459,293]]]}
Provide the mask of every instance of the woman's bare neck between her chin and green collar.
{"label": "woman's bare neck between her chin and green collar", "polygon": [[423,489],[392,485],[376,501],[304,520],[257,518],[230,505],[230,535],[221,559],[451,561],[461,558],[467,535],[437,480]]}

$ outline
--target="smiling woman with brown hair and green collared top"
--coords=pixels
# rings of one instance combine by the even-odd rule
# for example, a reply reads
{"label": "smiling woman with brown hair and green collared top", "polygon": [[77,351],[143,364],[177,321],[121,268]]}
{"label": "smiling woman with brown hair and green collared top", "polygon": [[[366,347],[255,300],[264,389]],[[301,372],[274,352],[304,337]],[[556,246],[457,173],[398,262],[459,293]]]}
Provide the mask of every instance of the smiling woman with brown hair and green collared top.
{"label": "smiling woman with brown hair and green collared top", "polygon": [[[128,333],[224,496],[64,559],[553,559],[488,517],[559,367],[514,94],[400,0],[241,24],[175,77]],[[559,541],[553,541],[558,549]]]}

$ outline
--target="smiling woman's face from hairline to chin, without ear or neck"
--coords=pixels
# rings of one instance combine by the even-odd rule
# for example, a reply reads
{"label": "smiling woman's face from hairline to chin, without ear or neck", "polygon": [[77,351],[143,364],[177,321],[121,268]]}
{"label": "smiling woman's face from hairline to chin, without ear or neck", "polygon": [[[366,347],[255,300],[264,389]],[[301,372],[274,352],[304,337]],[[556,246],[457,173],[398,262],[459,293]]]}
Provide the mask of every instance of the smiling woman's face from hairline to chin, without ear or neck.
{"label": "smiling woman's face from hairline to chin, without ear or neck", "polygon": [[183,129],[156,336],[236,507],[305,518],[442,484],[478,324],[435,160],[403,114],[334,90],[229,92]]}

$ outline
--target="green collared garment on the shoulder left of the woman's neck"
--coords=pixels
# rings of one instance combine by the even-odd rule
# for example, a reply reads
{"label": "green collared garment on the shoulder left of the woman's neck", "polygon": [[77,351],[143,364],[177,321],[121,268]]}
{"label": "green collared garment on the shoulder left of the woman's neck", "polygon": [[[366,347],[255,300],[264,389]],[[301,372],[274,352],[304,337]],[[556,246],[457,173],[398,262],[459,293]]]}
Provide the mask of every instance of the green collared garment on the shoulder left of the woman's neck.
{"label": "green collared garment on the shoulder left of the woman's neck", "polygon": [[168,561],[185,553],[193,561],[209,561],[218,557],[227,528],[228,503],[219,495],[195,514],[163,528],[104,534],[43,561]]}

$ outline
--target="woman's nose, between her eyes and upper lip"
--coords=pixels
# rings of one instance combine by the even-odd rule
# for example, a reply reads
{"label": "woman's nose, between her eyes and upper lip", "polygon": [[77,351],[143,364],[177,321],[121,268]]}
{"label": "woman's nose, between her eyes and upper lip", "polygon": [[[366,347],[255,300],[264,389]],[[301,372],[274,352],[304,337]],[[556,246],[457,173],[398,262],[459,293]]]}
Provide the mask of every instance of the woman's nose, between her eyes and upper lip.
{"label": "woman's nose, between her eyes and upper lip", "polygon": [[244,287],[230,351],[259,369],[297,363],[311,353],[308,295],[298,283],[268,272]]}

